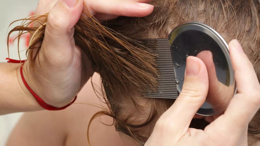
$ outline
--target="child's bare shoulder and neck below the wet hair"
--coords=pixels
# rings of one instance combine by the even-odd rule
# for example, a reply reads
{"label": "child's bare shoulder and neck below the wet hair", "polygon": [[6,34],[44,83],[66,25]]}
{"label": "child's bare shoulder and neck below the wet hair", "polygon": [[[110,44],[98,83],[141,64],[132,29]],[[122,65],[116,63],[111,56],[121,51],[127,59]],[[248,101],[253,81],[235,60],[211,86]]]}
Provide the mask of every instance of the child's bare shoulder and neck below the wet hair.
{"label": "child's bare shoulder and neck below the wet hair", "polygon": [[[99,81],[99,76],[95,75],[93,80]],[[75,104],[65,110],[25,113],[10,135],[7,146],[88,145],[87,128],[90,118],[101,110],[88,104],[102,104],[90,81],[78,94]],[[93,120],[89,131],[91,145],[123,145],[114,126],[104,125],[101,121],[112,124],[113,119],[103,116]]]}

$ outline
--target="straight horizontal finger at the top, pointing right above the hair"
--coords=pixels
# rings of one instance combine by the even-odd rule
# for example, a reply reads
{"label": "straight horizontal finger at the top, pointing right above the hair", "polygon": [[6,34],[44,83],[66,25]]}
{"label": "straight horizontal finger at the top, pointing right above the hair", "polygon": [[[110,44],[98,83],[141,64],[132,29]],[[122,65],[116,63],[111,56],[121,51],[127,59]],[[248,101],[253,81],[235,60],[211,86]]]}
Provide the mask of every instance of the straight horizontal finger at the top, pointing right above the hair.
{"label": "straight horizontal finger at the top, pointing right above the hair", "polygon": [[103,13],[116,16],[128,16],[128,17],[144,17],[153,11],[154,6],[146,3],[138,3],[134,1],[85,1],[86,11],[95,15],[96,13]]}

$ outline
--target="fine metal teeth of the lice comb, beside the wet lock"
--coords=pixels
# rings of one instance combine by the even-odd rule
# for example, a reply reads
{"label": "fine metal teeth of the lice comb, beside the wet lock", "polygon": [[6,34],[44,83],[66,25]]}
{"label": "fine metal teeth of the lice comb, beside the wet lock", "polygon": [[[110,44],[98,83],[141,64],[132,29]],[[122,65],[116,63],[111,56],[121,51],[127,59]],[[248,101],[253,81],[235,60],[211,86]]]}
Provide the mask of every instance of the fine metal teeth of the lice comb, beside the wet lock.
{"label": "fine metal teeth of the lice comb, beside the wet lock", "polygon": [[158,88],[157,91],[146,92],[146,97],[177,98],[178,91],[168,39],[142,39],[142,43],[158,55],[156,58],[156,69],[159,72]]}

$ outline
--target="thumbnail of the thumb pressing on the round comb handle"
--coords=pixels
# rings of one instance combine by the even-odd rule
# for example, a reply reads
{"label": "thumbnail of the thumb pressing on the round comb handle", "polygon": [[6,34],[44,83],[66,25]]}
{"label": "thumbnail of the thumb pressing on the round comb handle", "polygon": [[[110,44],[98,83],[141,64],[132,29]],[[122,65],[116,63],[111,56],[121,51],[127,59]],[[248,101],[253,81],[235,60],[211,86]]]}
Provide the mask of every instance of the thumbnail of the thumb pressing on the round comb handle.
{"label": "thumbnail of the thumb pressing on the round comb handle", "polygon": [[187,76],[198,75],[199,70],[200,70],[200,64],[197,61],[196,57],[189,56],[187,58],[187,63],[186,63],[186,75]]}

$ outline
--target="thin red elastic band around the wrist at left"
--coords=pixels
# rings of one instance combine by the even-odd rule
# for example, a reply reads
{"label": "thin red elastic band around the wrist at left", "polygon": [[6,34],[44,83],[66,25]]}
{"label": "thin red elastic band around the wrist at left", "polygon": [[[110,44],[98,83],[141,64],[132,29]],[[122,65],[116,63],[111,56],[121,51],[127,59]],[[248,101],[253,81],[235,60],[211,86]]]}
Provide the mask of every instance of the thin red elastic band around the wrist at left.
{"label": "thin red elastic band around the wrist at left", "polygon": [[[9,58],[6,58],[6,60],[9,60],[8,62],[9,63],[24,63],[26,60],[23,60],[23,61],[20,61],[20,60],[14,60],[14,59],[9,59]],[[23,83],[24,85],[26,86],[26,88],[31,92],[31,94],[34,96],[34,98],[36,99],[36,101],[38,102],[39,105],[41,105],[42,108],[44,109],[47,109],[47,110],[62,110],[62,109],[65,109],[67,108],[68,106],[70,106],[72,103],[74,103],[74,101],[77,99],[77,96],[75,96],[75,98],[73,99],[72,102],[70,102],[69,104],[65,105],[64,107],[61,107],[61,108],[57,108],[57,107],[54,107],[52,105],[49,105],[47,104],[46,102],[44,102],[42,100],[42,98],[40,98],[36,93],[34,93],[34,91],[29,87],[29,85],[26,83],[25,79],[24,79],[24,76],[23,76],[23,67],[21,66],[20,68],[20,73],[21,73],[21,77],[22,77],[22,80],[23,80]]]}

